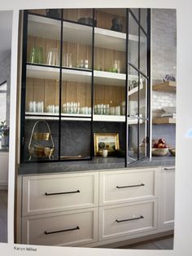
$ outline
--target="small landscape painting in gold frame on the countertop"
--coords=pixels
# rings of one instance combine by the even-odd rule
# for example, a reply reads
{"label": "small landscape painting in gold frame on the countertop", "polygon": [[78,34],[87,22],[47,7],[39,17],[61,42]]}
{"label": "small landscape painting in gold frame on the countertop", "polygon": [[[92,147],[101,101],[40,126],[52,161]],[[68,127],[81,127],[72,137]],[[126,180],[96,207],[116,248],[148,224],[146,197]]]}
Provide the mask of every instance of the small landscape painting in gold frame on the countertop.
{"label": "small landscape painting in gold frame on the countertop", "polygon": [[108,150],[108,154],[120,148],[119,134],[117,133],[95,133],[94,134],[94,155],[101,154],[103,149]]}

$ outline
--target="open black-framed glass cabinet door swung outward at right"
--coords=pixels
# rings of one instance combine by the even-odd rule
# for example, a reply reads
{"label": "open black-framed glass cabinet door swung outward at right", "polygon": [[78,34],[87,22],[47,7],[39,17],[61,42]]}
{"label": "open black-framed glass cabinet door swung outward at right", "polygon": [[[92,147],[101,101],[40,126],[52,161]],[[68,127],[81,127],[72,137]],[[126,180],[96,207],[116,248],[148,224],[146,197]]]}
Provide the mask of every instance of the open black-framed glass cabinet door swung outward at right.
{"label": "open black-framed glass cabinet door swung outward at right", "polygon": [[149,37],[147,9],[129,9],[127,163],[149,157]]}

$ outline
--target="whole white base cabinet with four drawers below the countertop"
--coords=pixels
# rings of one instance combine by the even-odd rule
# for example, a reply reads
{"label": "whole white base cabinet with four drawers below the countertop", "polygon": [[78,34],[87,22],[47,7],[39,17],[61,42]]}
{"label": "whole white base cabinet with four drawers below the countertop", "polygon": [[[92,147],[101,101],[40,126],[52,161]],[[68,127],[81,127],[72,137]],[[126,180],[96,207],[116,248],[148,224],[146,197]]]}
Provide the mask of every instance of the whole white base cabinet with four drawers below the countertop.
{"label": "whole white base cabinet with four drawers below the countertop", "polygon": [[170,167],[20,179],[17,239],[23,244],[99,247],[173,229],[174,170]]}

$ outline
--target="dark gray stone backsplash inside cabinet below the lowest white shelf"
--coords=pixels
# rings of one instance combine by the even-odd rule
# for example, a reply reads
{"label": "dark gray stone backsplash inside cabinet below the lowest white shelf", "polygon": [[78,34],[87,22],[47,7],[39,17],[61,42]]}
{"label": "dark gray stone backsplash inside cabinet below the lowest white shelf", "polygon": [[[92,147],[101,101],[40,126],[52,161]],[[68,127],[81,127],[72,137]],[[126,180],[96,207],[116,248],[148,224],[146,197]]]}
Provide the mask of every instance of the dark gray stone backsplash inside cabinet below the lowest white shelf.
{"label": "dark gray stone backsplash inside cabinet below the lowest white shelf", "polygon": [[[25,121],[25,147],[24,159],[28,160],[28,143],[32,134],[33,126],[36,121]],[[59,122],[47,121],[55,143],[55,157],[58,157],[59,148]],[[85,156],[90,155],[90,121],[63,121],[61,123],[61,156]],[[47,132],[47,126],[44,122],[39,122],[34,131]],[[100,122],[95,121],[93,126],[94,133],[119,133],[120,148],[125,148],[125,124],[117,122]],[[51,146],[48,142],[33,141],[32,145],[41,143],[44,146]],[[94,148],[93,148],[94,150]],[[94,151],[93,151],[94,152]]]}

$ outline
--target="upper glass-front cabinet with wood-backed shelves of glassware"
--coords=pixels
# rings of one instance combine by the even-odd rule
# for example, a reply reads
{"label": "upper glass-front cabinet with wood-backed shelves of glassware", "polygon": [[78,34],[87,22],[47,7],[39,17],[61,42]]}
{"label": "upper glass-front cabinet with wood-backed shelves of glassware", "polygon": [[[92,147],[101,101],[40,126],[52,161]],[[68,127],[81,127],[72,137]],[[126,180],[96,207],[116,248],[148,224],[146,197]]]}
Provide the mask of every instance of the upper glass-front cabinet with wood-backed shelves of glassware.
{"label": "upper glass-front cabinet with wood-backed shelves of glassware", "polygon": [[89,160],[103,130],[125,141],[125,166],[149,157],[150,10],[56,11],[24,11],[21,161]]}

